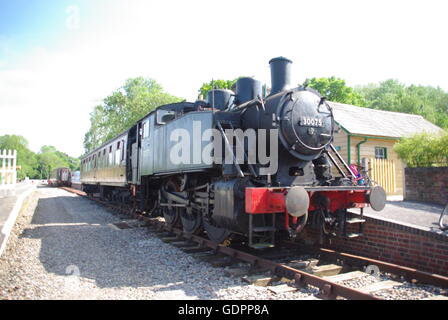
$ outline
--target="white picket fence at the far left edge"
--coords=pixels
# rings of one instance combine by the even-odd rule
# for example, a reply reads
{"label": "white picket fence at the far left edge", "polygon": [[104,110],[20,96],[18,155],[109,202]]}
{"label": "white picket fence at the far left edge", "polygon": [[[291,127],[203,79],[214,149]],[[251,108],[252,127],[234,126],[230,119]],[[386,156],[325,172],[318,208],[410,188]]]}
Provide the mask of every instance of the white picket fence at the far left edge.
{"label": "white picket fence at the far left edge", "polygon": [[[17,151],[0,150],[2,166],[0,169],[0,196],[15,194],[17,183]],[[6,193],[6,194],[5,194]]]}

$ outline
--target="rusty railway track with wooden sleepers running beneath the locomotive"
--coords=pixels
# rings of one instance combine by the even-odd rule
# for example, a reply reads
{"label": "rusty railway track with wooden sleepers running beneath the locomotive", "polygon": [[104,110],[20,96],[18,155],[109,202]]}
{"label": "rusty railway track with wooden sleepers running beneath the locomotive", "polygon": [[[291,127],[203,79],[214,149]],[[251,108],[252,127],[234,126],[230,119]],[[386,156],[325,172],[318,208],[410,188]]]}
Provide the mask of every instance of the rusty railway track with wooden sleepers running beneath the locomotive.
{"label": "rusty railway track with wooden sleepers running beneath the locomotive", "polygon": [[[87,195],[79,190],[62,187],[79,196]],[[157,218],[149,218],[98,198],[87,197],[118,213],[126,214],[155,232],[159,238],[213,266],[226,267],[231,276],[259,286],[268,286],[274,293],[291,292],[311,286],[316,289],[315,299],[380,300],[375,292],[397,288],[404,281],[427,284],[442,289],[448,288],[448,277],[399,266],[384,261],[337,252],[325,248],[284,242],[283,249],[255,251],[245,247],[230,247],[210,241],[204,237],[186,234]],[[131,228],[126,221],[116,224],[118,228]],[[325,264],[321,264],[325,261]],[[366,268],[367,267],[367,268]],[[350,282],[367,277],[375,272],[391,274],[388,280],[379,280],[355,288]],[[393,279],[393,280],[392,280]],[[310,287],[309,287],[310,288]],[[445,295],[434,295],[431,300],[448,300]]]}

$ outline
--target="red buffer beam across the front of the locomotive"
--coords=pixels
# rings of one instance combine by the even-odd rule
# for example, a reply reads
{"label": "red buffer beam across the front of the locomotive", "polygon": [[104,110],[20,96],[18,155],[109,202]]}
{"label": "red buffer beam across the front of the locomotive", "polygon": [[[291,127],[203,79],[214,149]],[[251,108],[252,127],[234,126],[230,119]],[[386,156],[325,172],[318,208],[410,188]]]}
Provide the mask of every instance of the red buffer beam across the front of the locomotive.
{"label": "red buffer beam across the front of the locomotive", "polygon": [[[369,205],[368,190],[348,191],[309,191],[310,206],[308,211],[319,209],[316,196],[323,195],[330,200],[328,210],[335,212],[338,209],[363,208]],[[246,188],[246,213],[270,214],[286,212],[286,188]]]}

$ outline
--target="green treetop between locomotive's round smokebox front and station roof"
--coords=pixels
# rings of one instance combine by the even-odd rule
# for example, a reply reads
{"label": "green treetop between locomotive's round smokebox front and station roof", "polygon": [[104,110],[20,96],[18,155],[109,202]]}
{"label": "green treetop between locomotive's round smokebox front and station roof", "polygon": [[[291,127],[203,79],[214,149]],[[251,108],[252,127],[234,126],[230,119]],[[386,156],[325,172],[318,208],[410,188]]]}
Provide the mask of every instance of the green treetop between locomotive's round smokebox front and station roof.
{"label": "green treetop between locomotive's round smokebox front and station roof", "polygon": [[365,106],[363,97],[353,88],[347,86],[343,79],[335,77],[311,78],[306,79],[303,85],[317,90],[330,101]]}

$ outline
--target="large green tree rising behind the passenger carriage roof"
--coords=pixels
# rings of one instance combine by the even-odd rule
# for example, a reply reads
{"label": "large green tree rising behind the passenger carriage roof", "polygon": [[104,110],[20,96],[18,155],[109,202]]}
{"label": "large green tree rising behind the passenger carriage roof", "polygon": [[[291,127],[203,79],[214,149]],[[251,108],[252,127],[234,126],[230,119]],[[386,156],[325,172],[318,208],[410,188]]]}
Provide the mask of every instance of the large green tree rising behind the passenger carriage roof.
{"label": "large green tree rising behind the passenger carriage roof", "polygon": [[84,137],[86,152],[93,150],[122,131],[158,106],[179,102],[163,91],[152,79],[128,79],[123,87],[103,100],[90,114],[90,129]]}

